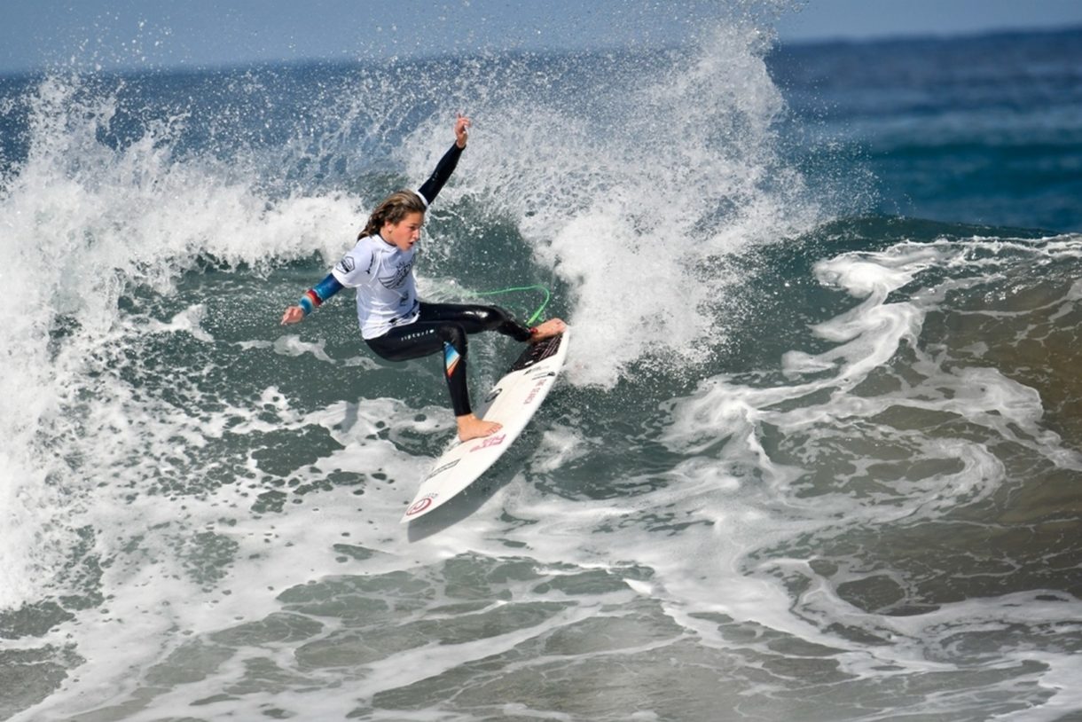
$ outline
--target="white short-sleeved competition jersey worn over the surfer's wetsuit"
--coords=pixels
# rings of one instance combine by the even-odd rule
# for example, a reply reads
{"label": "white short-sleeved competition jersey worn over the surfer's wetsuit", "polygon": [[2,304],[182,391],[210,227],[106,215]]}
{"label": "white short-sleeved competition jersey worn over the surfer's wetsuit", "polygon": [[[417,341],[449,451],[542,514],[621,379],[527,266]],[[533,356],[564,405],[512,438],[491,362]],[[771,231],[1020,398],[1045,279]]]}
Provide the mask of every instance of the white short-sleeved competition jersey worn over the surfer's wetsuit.
{"label": "white short-sleeved competition jersey worn over the surfer's wetsuit", "polygon": [[401,251],[379,235],[357,241],[331,273],[338,283],[357,289],[360,336],[375,339],[395,326],[417,320],[420,301],[413,281],[418,246]]}

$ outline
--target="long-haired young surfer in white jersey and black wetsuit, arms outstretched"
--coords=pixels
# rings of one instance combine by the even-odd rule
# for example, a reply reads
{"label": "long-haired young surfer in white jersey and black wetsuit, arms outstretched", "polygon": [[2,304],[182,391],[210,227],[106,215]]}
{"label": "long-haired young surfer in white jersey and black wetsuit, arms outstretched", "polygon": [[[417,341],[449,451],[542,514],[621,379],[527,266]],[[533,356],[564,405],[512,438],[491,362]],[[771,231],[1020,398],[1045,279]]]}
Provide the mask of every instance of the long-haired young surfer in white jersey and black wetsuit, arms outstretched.
{"label": "long-haired young surfer in white jersey and black wetsuit, arms outstretched", "polygon": [[343,288],[357,289],[357,320],[368,346],[387,360],[400,362],[443,353],[451,408],[459,438],[469,441],[500,430],[478,419],[466,385],[466,337],[497,331],[516,341],[537,342],[567,327],[552,318],[526,328],[498,306],[427,303],[417,296],[413,261],[424,213],[458,166],[466,147],[470,119],[454,121],[454,143],[417,192],[398,191],[375,207],[357,244],[319,284],[286,309],[282,325],[296,324]]}

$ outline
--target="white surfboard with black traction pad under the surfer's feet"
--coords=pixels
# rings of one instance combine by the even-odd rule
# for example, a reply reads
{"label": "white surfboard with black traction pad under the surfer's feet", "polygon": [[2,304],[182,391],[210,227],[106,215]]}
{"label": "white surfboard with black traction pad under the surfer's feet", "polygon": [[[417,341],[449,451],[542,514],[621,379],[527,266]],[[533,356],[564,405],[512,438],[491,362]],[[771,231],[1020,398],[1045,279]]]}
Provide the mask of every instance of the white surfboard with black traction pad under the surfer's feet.
{"label": "white surfboard with black traction pad under the surfer's feet", "polygon": [[567,356],[567,337],[568,332],[564,331],[523,352],[476,412],[478,418],[498,421],[503,428],[491,436],[458,442],[447,449],[421,482],[417,496],[406,508],[403,523],[439,508],[503,456],[556,381]]}

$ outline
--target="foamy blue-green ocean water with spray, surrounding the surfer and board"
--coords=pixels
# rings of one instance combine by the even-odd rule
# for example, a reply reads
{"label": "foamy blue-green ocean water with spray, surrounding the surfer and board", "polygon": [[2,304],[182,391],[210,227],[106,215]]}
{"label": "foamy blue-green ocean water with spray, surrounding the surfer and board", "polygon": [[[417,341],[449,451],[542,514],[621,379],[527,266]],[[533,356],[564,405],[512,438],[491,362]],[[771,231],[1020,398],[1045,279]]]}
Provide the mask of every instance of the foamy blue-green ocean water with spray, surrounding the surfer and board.
{"label": "foamy blue-green ocean water with spray, surrounding the surfer and board", "polygon": [[[458,110],[422,296],[576,333],[399,525],[438,362],[278,318]],[[0,142],[0,719],[1082,719],[1082,31],[57,68]]]}

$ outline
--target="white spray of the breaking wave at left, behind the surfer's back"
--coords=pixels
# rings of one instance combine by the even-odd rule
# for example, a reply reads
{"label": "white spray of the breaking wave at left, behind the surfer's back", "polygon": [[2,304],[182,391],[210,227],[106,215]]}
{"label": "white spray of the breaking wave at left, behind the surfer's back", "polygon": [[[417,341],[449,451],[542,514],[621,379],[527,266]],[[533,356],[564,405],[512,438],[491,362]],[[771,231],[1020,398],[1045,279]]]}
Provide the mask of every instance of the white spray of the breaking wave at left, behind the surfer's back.
{"label": "white spray of the breaking wave at left, behind the surfer's back", "polygon": [[169,293],[208,258],[258,268],[355,221],[348,196],[270,202],[258,176],[237,180],[235,162],[185,157],[184,114],[144,119],[118,141],[124,89],[50,76],[10,106],[25,114],[27,148],[0,182],[2,277],[19,303],[5,324],[0,378],[0,607],[39,595],[44,572],[64,568],[80,499],[111,476],[94,449],[126,422],[95,417],[92,396],[128,296]]}

